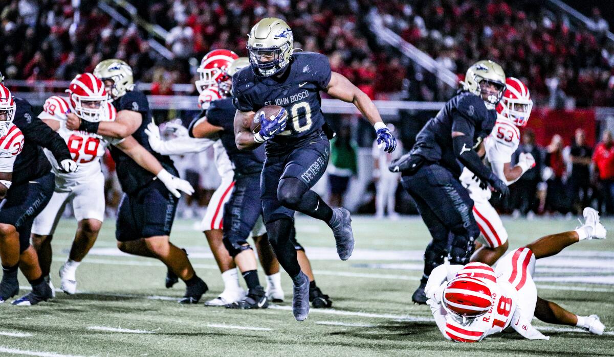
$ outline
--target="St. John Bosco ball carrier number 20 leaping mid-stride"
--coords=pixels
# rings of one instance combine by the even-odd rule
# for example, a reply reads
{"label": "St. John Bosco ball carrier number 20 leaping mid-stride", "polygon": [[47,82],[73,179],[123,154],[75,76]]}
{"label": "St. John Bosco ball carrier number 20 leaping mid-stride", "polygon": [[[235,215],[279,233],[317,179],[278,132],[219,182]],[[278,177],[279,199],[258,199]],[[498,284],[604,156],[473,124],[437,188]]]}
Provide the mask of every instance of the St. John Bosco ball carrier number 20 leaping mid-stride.
{"label": "St. John Bosco ball carrier number 20 leaping mid-stride", "polygon": [[[330,71],[328,58],[319,53],[293,53],[292,30],[279,18],[264,18],[247,37],[251,68],[233,76],[235,139],[239,150],[254,150],[266,142],[266,159],[260,190],[266,232],[279,263],[294,283],[292,312],[303,321],[309,313],[309,279],[301,272],[297,251],[290,241],[294,212],[327,223],[336,240],[337,253],[347,260],[354,250],[348,210],[331,209],[310,190],[322,177],[330,144],[324,132],[320,91],[352,102],[377,132],[384,150],[394,151],[396,141],[378,110],[359,88]],[[251,126],[265,106],[283,109],[273,118],[260,113],[258,132]]]}

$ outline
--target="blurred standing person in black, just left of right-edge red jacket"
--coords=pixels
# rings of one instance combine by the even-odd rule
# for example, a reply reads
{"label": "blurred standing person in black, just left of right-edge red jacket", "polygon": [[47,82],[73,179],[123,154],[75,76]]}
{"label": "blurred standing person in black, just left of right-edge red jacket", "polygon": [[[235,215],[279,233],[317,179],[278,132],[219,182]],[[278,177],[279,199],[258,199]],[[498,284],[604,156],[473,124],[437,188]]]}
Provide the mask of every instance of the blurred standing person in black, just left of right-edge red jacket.
{"label": "blurred standing person in black, just left of right-edge red jacket", "polygon": [[589,188],[591,187],[591,158],[593,148],[586,145],[586,135],[583,129],[576,129],[570,150],[572,174],[570,176],[571,198],[573,208],[581,214],[584,207],[590,203]]}

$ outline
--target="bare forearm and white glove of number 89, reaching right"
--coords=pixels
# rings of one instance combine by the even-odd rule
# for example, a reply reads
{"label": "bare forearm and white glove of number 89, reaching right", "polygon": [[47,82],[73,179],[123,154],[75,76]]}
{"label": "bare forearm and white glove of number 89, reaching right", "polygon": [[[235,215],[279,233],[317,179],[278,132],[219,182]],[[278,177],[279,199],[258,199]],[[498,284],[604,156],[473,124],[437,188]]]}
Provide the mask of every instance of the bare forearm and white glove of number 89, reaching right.
{"label": "bare forearm and white glove of number 89, reaching right", "polygon": [[158,159],[142,147],[133,137],[126,137],[116,146],[126,153],[126,155],[130,156],[139,166],[156,175],[175,197],[179,198],[181,196],[179,191],[187,193],[190,196],[194,193],[194,188],[190,183],[169,174],[169,172],[162,167]]}

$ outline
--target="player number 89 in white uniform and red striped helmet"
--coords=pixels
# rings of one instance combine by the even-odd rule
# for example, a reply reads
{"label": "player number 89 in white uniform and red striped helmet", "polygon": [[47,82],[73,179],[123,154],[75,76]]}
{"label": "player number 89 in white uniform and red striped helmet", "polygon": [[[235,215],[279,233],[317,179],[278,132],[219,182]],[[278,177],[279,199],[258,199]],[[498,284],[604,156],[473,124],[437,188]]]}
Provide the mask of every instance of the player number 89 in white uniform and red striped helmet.
{"label": "player number 89 in white uniform and red striped helmet", "polygon": [[72,80],[67,92],[68,97],[52,96],[47,99],[38,117],[66,141],[79,171],[62,172],[55,158],[45,150],[55,174],[55,191],[47,207],[34,220],[32,241],[42,273],[49,280],[53,232],[64,206],[68,202],[72,204],[79,223],[68,260],[60,269],[60,288],[64,293],[74,294],[77,291],[77,267],[96,242],[104,220],[104,176],[100,169],[100,158],[105,149],[114,145],[152,174],[160,171],[161,167],[157,159],[132,136],[113,139],[66,128],[68,115],[76,115],[81,120],[93,123],[115,120],[117,112],[109,103],[100,79],[91,73],[79,74]]}

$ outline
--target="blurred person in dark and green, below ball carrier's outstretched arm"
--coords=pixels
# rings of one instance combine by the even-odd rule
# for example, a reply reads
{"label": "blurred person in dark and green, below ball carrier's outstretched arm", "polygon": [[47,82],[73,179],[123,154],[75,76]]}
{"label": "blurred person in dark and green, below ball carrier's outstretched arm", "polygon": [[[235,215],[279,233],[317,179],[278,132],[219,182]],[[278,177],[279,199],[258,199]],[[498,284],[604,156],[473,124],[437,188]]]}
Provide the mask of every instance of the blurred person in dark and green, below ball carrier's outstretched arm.
{"label": "blurred person in dark and green, below ball carrier's outstretched arm", "polygon": [[343,195],[348,190],[350,177],[357,174],[358,145],[352,140],[349,126],[341,126],[337,136],[330,140],[330,164],[328,165],[328,183],[330,185],[331,207],[343,205]]}

